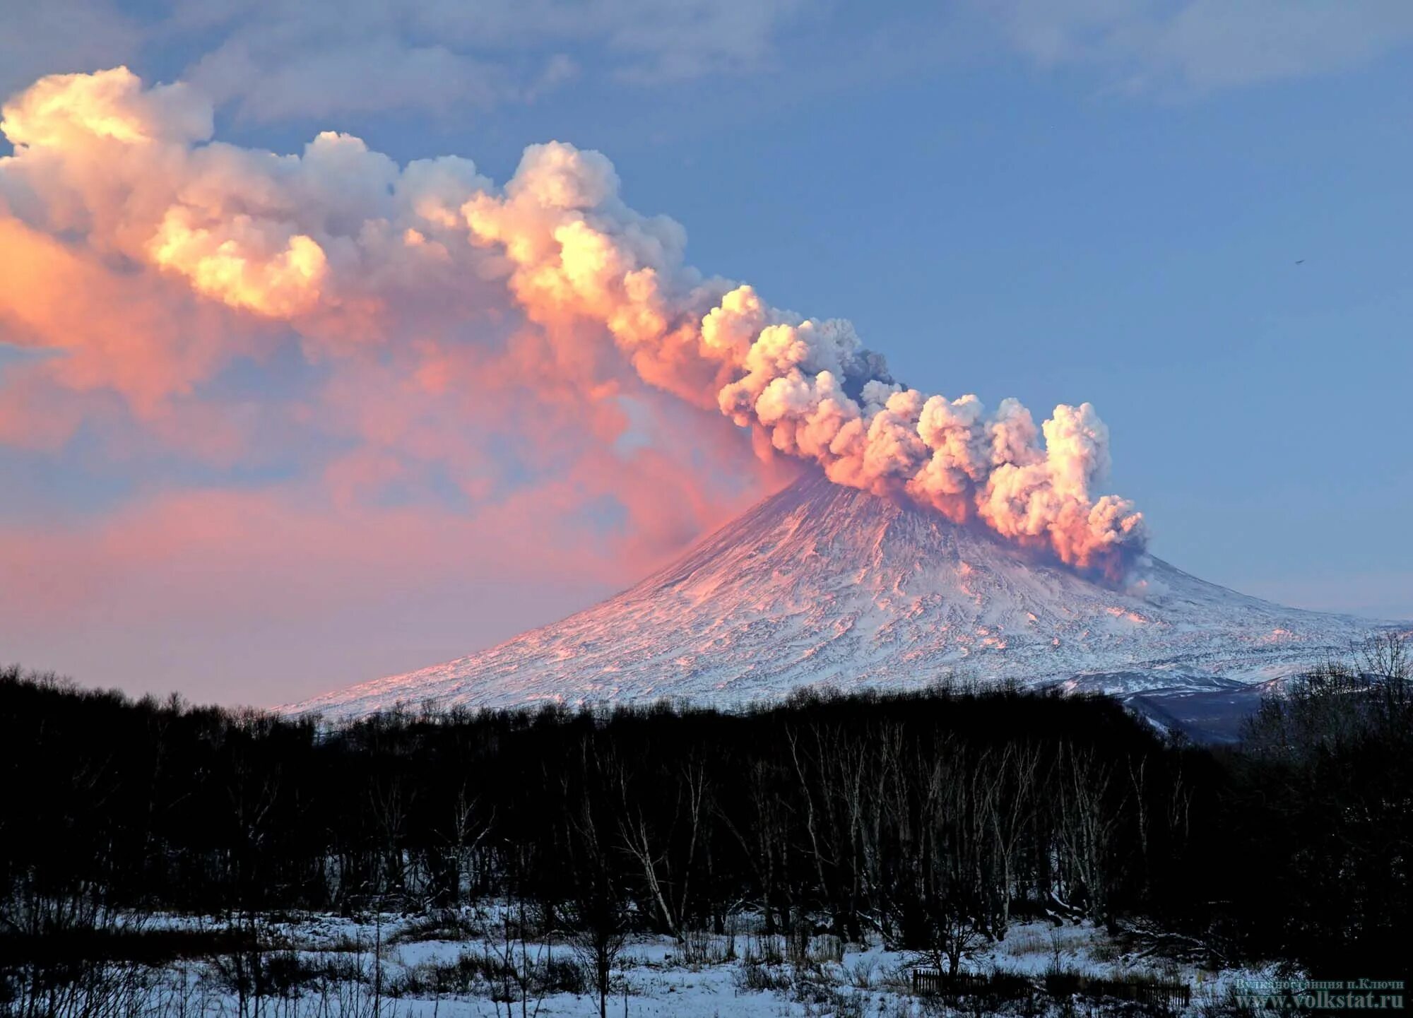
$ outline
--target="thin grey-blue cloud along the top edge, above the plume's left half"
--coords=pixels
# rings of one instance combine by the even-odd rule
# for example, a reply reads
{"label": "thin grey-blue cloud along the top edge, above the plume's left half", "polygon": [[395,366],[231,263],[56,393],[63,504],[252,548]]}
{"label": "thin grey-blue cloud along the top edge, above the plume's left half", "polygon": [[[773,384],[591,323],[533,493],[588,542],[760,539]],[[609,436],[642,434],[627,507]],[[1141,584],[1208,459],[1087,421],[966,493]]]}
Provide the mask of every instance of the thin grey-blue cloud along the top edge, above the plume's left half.
{"label": "thin grey-blue cloud along the top edge, above the plume's left half", "polygon": [[[0,0],[8,3],[21,0]],[[7,90],[55,69],[131,61],[146,45],[161,47],[167,61],[172,52],[187,54],[188,65],[171,72],[179,71],[252,120],[447,112],[530,102],[584,66],[649,85],[749,72],[764,65],[777,28],[801,6],[800,0],[205,0],[138,20],[124,18],[116,3],[55,0],[52,10],[25,4],[27,30],[14,35],[27,37],[32,59],[24,74],[7,76]],[[110,27],[119,24],[123,31]],[[75,38],[88,42],[78,45]],[[575,59],[579,52],[582,61]]]}

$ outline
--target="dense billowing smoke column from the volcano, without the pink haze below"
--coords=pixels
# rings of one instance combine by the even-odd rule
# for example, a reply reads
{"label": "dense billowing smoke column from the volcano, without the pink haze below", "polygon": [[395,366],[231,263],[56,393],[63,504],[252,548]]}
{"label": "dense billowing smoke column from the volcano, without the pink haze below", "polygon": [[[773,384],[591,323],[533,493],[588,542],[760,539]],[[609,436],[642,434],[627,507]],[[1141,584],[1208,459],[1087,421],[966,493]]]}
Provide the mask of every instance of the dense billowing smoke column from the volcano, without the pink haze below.
{"label": "dense billowing smoke column from the volcano, without the pink haze below", "polygon": [[906,387],[848,321],[701,276],[682,228],[625,205],[599,153],[531,146],[503,188],[469,160],[398,165],[346,134],[276,156],[211,141],[203,96],[126,68],[44,78],[4,105],[0,130],[16,150],[0,160],[0,223],[82,236],[321,351],[397,332],[438,288],[490,281],[554,342],[612,337],[649,385],[836,484],[904,493],[1111,577],[1143,550],[1142,515],[1094,493],[1109,451],[1091,404],[1037,427],[1012,399],[986,410]]}

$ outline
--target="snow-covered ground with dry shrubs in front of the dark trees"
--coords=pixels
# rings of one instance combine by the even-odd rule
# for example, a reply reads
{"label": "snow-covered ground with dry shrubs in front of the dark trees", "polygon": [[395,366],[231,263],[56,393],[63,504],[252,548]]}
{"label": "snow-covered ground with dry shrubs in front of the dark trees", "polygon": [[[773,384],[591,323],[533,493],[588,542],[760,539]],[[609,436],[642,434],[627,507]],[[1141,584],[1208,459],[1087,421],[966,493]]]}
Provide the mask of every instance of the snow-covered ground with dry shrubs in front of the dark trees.
{"label": "snow-covered ground with dry shrubs in front of the dark trees", "polygon": [[[504,915],[465,911],[431,922],[374,916],[353,920],[328,915],[283,918],[260,925],[260,940],[271,946],[263,959],[278,983],[274,995],[247,1000],[244,1014],[267,1018],[357,1015],[359,1018],[442,1018],[444,1015],[598,1015],[599,1001],[584,981],[574,947],[552,936],[516,939]],[[148,928],[211,930],[208,919],[162,916]],[[219,925],[218,925],[219,926]],[[916,994],[916,959],[879,943],[841,946],[817,939],[805,957],[784,957],[784,940],[752,932],[732,936],[697,935],[688,944],[668,937],[636,937],[625,943],[613,970],[609,1015],[649,1018],[923,1018],[944,1014],[1252,1014],[1231,1007],[1239,980],[1262,980],[1272,970],[1214,971],[1183,961],[1174,952],[1154,952],[1152,942],[1111,937],[1091,923],[1053,928],[1046,922],[1013,926],[1000,943],[981,946],[964,961],[971,973],[996,971],[1031,977],[1046,971],[1082,973],[1092,978],[1147,974],[1193,988],[1186,1010],[1147,1010],[1121,1001],[1091,998],[1034,1000],[989,1005],[944,1001]],[[512,959],[506,966],[504,959]],[[138,1007],[127,1014],[242,1014],[230,959],[172,961],[140,980]],[[534,973],[523,994],[510,973]]]}

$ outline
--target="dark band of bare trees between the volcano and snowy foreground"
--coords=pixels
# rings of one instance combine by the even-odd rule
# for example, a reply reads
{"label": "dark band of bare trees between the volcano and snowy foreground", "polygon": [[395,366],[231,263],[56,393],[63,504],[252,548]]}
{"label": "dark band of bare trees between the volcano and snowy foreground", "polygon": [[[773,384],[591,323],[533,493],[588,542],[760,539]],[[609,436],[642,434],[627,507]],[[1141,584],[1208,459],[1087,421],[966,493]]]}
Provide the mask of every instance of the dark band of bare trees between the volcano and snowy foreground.
{"label": "dark band of bare trees between the volcano and snowy foreground", "polygon": [[11,669],[0,939],[112,909],[253,923],[496,899],[574,930],[605,978],[630,930],[685,940],[747,912],[952,971],[1020,918],[1142,916],[1364,973],[1397,960],[1413,913],[1413,713],[1389,653],[1383,676],[1306,677],[1229,751],[1016,687],[324,724]]}

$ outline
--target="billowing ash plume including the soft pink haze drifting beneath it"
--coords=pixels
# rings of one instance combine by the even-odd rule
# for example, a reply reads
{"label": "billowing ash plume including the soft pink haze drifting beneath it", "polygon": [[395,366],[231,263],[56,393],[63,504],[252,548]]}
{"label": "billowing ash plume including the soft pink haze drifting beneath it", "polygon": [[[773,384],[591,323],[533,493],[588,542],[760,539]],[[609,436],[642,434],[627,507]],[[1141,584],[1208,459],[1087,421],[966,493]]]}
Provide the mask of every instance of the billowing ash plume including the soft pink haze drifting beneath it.
{"label": "billowing ash plume including the soft pink haze drifting beneath it", "polygon": [[0,382],[0,440],[64,455],[88,426],[130,482],[0,525],[31,628],[626,583],[796,461],[1081,567],[1143,547],[1094,493],[1089,404],[1036,426],[896,383],[848,322],[694,270],[598,153],[531,146],[496,188],[345,134],[237,148],[124,68],[42,79],[0,130],[0,338],[42,353]]}

